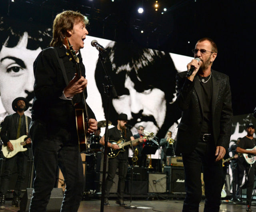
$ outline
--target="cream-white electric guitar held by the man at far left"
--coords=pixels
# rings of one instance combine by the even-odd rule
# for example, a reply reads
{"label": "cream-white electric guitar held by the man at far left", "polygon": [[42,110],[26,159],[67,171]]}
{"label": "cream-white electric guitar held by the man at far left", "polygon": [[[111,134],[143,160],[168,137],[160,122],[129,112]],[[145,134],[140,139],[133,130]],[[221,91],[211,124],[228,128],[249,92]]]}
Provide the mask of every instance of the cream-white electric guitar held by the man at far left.
{"label": "cream-white electric guitar held by the man at far left", "polygon": [[12,143],[12,146],[14,148],[13,151],[10,151],[7,146],[2,145],[2,152],[3,152],[4,157],[12,158],[18,152],[27,151],[28,149],[23,147],[24,145],[26,145],[26,138],[27,137],[28,137],[27,135],[24,135],[24,136],[21,136],[20,138],[18,138],[16,140],[10,140],[10,142]]}

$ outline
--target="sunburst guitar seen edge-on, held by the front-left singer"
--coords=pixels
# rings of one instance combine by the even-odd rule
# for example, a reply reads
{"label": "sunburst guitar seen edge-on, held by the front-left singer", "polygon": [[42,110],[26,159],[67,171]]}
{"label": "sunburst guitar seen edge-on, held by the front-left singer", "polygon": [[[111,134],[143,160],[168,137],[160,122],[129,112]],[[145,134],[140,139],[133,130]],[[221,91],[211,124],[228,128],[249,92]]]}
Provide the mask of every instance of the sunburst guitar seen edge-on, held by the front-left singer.
{"label": "sunburst guitar seen edge-on, held by the front-left singer", "polygon": [[[81,77],[82,73],[79,68],[79,58],[76,55],[76,51],[73,50],[72,46],[70,46],[67,37],[64,38],[64,44],[68,52],[70,52],[72,58],[75,61],[77,76]],[[68,52],[67,52],[67,55],[69,55]],[[72,60],[72,58],[70,58],[70,60]],[[78,135],[80,152],[84,152],[85,150],[87,150],[87,148],[90,148],[90,144],[88,143],[90,139],[90,134],[87,132],[89,128],[89,124],[88,124],[88,109],[86,105],[86,98],[85,98],[84,92],[82,92],[80,95],[81,95],[82,102],[76,103],[74,104],[74,106],[75,106],[75,112],[76,112],[76,131]]]}

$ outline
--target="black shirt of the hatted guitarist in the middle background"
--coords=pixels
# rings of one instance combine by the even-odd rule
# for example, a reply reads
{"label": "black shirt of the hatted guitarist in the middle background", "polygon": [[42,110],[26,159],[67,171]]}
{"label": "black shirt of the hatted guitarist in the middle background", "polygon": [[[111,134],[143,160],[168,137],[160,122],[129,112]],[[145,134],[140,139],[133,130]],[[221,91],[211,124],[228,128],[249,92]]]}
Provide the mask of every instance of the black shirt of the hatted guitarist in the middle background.
{"label": "black shirt of the hatted guitarist in the middle background", "polygon": [[[124,131],[121,132],[121,130],[118,130],[117,126],[108,130],[108,140],[114,140],[117,142],[120,139],[124,139],[125,141],[130,141],[131,136],[132,132],[129,129],[126,129],[126,134]],[[116,156],[118,159],[128,159],[128,146],[124,146],[124,149],[124,152],[119,152],[118,156]]]}

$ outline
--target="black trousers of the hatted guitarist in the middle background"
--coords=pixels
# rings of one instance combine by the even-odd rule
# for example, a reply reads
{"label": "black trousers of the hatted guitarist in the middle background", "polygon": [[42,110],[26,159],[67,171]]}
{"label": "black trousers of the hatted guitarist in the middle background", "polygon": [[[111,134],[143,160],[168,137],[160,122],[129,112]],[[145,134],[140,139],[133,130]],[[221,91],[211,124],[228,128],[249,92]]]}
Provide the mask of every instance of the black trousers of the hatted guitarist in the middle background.
{"label": "black trousers of the hatted guitarist in the middle background", "polygon": [[125,186],[125,178],[127,174],[128,162],[127,160],[118,159],[118,156],[115,158],[108,159],[108,176],[106,178],[106,185],[105,185],[106,198],[109,197],[110,188],[113,184],[113,180],[116,175],[117,168],[118,168],[117,196],[119,199],[124,198],[124,186]]}

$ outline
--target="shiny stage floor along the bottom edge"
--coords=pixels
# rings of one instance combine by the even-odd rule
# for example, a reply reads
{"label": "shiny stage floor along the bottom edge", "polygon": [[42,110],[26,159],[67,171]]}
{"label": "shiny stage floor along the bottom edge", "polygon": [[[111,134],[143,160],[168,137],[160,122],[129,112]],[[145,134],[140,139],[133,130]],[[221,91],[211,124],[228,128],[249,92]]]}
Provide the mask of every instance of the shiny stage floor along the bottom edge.
{"label": "shiny stage floor along the bottom edge", "polygon": [[[110,206],[104,206],[104,212],[178,212],[182,210],[183,200],[134,200],[132,201],[133,206],[137,206],[137,209],[125,209],[124,207],[118,206],[114,199],[110,199]],[[125,201],[126,204],[130,204],[129,200]],[[253,202],[252,211],[256,211],[256,202]],[[6,209],[0,210],[0,212],[16,212],[19,210],[17,207],[12,206],[12,201],[6,201]],[[86,200],[82,201],[78,212],[94,212],[100,211],[100,200]],[[204,202],[201,202],[199,212],[204,211]],[[241,212],[246,211],[245,205],[233,204],[233,203],[222,203],[220,205],[220,211],[228,212]]]}

